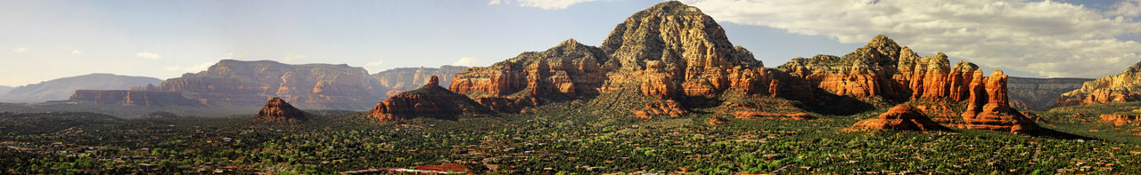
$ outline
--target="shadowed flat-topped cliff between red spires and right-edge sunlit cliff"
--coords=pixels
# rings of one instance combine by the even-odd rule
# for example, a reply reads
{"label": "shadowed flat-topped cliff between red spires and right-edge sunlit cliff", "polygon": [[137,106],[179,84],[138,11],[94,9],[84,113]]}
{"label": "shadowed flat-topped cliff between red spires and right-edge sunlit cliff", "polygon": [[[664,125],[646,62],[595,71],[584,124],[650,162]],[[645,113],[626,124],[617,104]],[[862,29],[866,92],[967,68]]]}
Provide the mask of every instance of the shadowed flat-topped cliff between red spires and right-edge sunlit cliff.
{"label": "shadowed flat-topped cliff between red spires and right-edge sunlit cliff", "polygon": [[1092,78],[1008,78],[1011,107],[1022,110],[1046,110],[1058,106],[1058,97],[1082,88]]}

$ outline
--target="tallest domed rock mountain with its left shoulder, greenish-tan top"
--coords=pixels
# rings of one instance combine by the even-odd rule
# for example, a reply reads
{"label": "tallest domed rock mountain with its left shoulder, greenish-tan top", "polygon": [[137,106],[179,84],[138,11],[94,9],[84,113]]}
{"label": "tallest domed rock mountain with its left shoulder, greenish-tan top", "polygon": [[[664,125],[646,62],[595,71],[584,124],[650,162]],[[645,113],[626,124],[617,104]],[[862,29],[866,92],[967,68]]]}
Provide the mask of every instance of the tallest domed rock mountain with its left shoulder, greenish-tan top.
{"label": "tallest domed rock mountain with its left shoulder, greenish-tan top", "polygon": [[[770,72],[751,52],[733,47],[725,31],[699,9],[663,2],[618,24],[600,48],[568,40],[543,52],[525,52],[458,74],[450,90],[505,113],[545,101],[582,99],[664,105],[672,113],[649,110],[661,110],[657,107],[633,110],[678,115],[686,110],[670,106],[687,101],[667,100],[718,98],[729,90],[779,92],[768,86],[776,84]],[[633,98],[628,91],[653,98]],[[606,99],[612,97],[628,99]]]}

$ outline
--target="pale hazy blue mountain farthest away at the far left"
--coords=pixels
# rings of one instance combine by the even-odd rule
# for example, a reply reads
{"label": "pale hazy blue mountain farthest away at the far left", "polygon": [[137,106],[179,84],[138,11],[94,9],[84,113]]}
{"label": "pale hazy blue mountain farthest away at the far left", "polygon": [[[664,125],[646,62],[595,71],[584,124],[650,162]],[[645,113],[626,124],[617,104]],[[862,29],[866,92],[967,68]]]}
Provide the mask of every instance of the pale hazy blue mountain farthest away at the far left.
{"label": "pale hazy blue mountain farthest away at the far left", "polygon": [[129,90],[131,85],[162,83],[162,80],[114,74],[88,74],[15,88],[0,97],[3,102],[67,100],[75,90]]}

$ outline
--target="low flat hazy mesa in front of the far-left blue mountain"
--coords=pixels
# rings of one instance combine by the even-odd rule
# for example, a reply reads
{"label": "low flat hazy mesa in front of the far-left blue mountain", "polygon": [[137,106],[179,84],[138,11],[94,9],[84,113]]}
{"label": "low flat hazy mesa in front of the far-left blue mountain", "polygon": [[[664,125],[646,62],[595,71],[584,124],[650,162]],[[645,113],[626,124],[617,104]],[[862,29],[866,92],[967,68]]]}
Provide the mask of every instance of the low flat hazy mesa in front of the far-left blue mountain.
{"label": "low flat hazy mesa in front of the far-left blue mountain", "polygon": [[178,92],[131,90],[76,90],[68,100],[135,107],[202,106],[199,101],[186,99]]}

